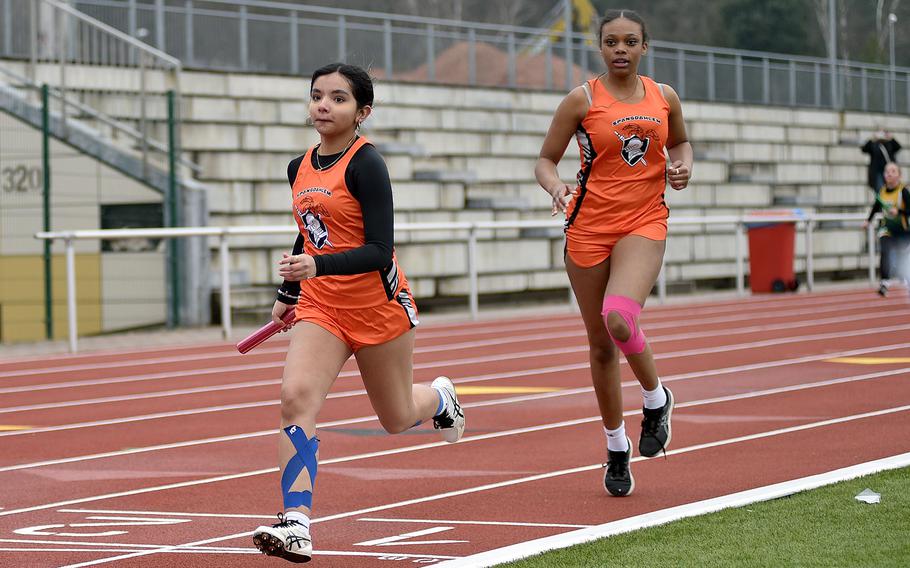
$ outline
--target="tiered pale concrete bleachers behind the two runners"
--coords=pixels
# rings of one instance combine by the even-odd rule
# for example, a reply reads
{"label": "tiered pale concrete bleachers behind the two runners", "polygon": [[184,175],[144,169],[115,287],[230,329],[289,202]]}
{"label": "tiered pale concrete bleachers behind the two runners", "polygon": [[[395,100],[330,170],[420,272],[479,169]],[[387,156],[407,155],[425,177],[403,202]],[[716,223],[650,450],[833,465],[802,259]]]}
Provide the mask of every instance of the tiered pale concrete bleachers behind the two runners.
{"label": "tiered pale concrete bleachers behind the two runners", "polygon": [[[120,118],[138,111],[123,93],[105,95],[103,70],[77,75],[85,96]],[[92,79],[91,77],[96,77]],[[96,84],[90,85],[96,81]],[[292,224],[286,166],[318,140],[305,124],[306,78],[184,72],[182,149],[199,163],[209,189],[211,225]],[[384,83],[364,134],[383,152],[395,191],[398,222],[549,219],[550,201],[534,180],[534,164],[564,93]],[[859,143],[878,125],[910,140],[910,117],[830,110],[684,101],[696,163],[690,187],[667,190],[672,216],[729,215],[758,209],[808,212],[867,210],[867,157]],[[152,113],[153,119],[160,118]],[[165,128],[159,120],[159,128]],[[910,150],[908,150],[910,151]],[[560,164],[571,182],[578,168],[574,141]],[[418,298],[467,292],[463,233],[399,232],[397,250]],[[562,235],[555,230],[498,230],[481,235],[482,294],[565,288]],[[232,239],[233,271],[248,293],[238,307],[270,302],[275,262],[291,237]],[[862,270],[867,257],[856,226],[815,232],[817,278]],[[797,270],[805,242],[797,239]],[[671,230],[671,285],[731,282],[731,226]],[[213,258],[214,274],[218,273]],[[712,284],[713,283],[713,284]]]}

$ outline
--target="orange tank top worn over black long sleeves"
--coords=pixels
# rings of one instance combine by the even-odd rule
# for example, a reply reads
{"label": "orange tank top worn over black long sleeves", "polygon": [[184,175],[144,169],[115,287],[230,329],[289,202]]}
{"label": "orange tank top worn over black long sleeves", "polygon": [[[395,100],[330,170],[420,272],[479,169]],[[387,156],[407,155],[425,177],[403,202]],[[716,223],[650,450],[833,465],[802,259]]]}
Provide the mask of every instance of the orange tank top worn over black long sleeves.
{"label": "orange tank top worn over black long sleeves", "polygon": [[[365,244],[360,202],[344,180],[351,158],[364,144],[369,141],[358,138],[337,163],[325,170],[313,168],[314,148],[303,157],[291,191],[294,219],[304,236],[306,254],[340,253]],[[300,295],[334,308],[369,308],[391,301],[407,285],[393,251],[392,263],[382,270],[310,278],[300,283]]]}

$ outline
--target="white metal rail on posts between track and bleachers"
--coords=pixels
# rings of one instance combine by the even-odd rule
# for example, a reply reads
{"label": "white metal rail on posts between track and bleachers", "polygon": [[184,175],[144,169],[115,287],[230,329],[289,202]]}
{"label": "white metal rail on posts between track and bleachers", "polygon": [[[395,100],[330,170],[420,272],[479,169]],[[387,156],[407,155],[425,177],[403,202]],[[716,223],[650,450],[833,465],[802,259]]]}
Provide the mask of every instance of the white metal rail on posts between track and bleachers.
{"label": "white metal rail on posts between track and bleachers", "polygon": [[[866,215],[861,213],[845,214],[817,214],[817,213],[767,213],[742,214],[742,215],[712,215],[705,217],[671,217],[670,227],[683,225],[734,225],[736,235],[736,290],[739,295],[745,294],[745,230],[750,223],[796,223],[802,225],[806,233],[806,286],[809,290],[815,285],[814,280],[814,253],[812,247],[812,233],[815,225],[826,221],[863,222]],[[477,242],[478,231],[490,229],[523,229],[523,228],[561,228],[563,223],[558,220],[522,220],[522,221],[465,221],[448,223],[399,223],[395,229],[398,232],[409,231],[466,231],[465,237],[450,237],[450,240],[465,242],[468,247],[468,303],[472,319],[478,317],[479,312],[479,287],[477,273]],[[231,322],[231,284],[230,284],[230,245],[232,236],[240,235],[267,235],[267,234],[295,234],[298,228],[293,225],[268,225],[268,226],[240,226],[240,227],[175,227],[175,228],[149,228],[149,229],[99,229],[39,232],[35,238],[42,240],[62,240],[66,249],[66,289],[67,289],[67,314],[69,329],[69,348],[77,351],[76,328],[76,263],[74,243],[78,240],[108,240],[108,239],[148,239],[148,238],[180,238],[180,237],[217,237],[219,259],[221,264],[221,327],[225,339],[230,339],[232,333]],[[869,256],[869,281],[875,279],[875,228],[869,224],[867,228],[868,256]],[[663,268],[657,281],[658,299],[661,303],[666,300],[666,271]]]}

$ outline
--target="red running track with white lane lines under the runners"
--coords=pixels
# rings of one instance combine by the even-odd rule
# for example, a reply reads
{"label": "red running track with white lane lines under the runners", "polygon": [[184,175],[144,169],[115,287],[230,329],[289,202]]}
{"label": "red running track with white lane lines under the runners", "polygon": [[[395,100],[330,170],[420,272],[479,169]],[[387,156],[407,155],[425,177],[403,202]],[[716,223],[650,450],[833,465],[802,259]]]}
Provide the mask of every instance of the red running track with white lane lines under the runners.
{"label": "red running track with white lane lines under the runners", "polygon": [[[320,416],[314,562],[473,565],[906,454],[908,316],[906,298],[869,290],[649,306],[643,326],[677,399],[673,442],[666,458],[635,458],[624,499],[601,485],[576,314],[424,325],[415,380],[455,379],[465,439],[384,434],[347,365]],[[215,344],[0,362],[0,566],[283,565],[249,533],[280,508],[286,341],[244,356]],[[641,398],[622,371],[634,443]]]}

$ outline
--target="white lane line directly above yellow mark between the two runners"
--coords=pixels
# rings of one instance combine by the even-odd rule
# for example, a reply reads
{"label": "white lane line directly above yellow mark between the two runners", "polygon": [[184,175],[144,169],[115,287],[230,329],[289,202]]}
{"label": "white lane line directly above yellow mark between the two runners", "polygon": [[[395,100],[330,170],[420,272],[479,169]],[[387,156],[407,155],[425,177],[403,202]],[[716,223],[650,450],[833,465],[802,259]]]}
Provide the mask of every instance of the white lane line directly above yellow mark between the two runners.
{"label": "white lane line directly above yellow mark between the two runners", "polygon": [[[858,318],[852,318],[856,320]],[[791,325],[790,327],[797,327],[797,325]],[[861,335],[871,335],[871,334],[881,334],[881,333],[891,333],[896,331],[906,331],[910,330],[910,324],[901,324],[887,327],[872,327],[864,328],[859,330],[848,330],[848,331],[839,331],[833,333],[821,333],[815,335],[795,335],[787,337],[778,337],[774,339],[766,339],[761,341],[752,341],[747,343],[735,343],[728,345],[718,345],[707,348],[698,348],[698,349],[689,349],[684,351],[675,351],[669,353],[659,353],[654,356],[655,360],[676,358],[676,357],[693,357],[697,355],[708,355],[713,353],[722,353],[728,351],[741,351],[748,349],[755,349],[761,347],[773,347],[781,345],[784,343],[808,343],[811,341],[826,341],[831,339],[841,339],[844,337],[857,337]],[[712,337],[712,336],[728,336],[732,335],[729,330],[718,330],[716,332],[705,332],[701,337]],[[684,339],[686,337],[692,337],[693,334],[683,334],[680,336],[674,336],[674,339]],[[660,338],[655,338],[649,340],[650,343],[656,343],[660,341]],[[439,368],[439,367],[452,367],[460,365],[471,365],[471,364],[480,364],[480,363],[489,363],[492,361],[507,361],[521,359],[526,360],[530,357],[548,357],[553,355],[567,355],[572,353],[587,352],[587,345],[578,345],[571,347],[555,348],[555,349],[546,349],[546,350],[536,350],[536,351],[526,351],[521,353],[506,353],[502,355],[493,355],[493,356],[484,356],[484,357],[468,357],[463,359],[448,359],[443,361],[433,361],[428,363],[420,363],[414,365],[414,370],[423,370],[430,368]],[[624,359],[623,359],[624,361]],[[196,373],[200,374],[200,373]],[[339,375],[343,376],[357,376],[359,373],[356,371],[346,371]],[[185,376],[182,374],[181,376]],[[458,382],[458,381],[456,381]],[[185,396],[188,394],[199,394],[199,393],[211,393],[219,390],[235,390],[243,388],[257,388],[263,386],[269,386],[272,384],[280,383],[279,379],[276,380],[263,380],[263,381],[251,381],[247,383],[228,383],[223,385],[209,385],[202,387],[194,387],[188,389],[174,389],[166,391],[154,391],[147,393],[136,393],[130,395],[121,395],[121,396],[111,396],[111,397],[100,397],[93,399],[83,399],[83,400],[69,400],[69,401],[60,401],[60,402],[48,402],[42,404],[31,404],[23,406],[12,406],[6,408],[0,408],[0,414],[9,414],[15,412],[29,412],[34,410],[47,410],[47,409],[58,409],[69,406],[85,406],[90,404],[108,404],[116,402],[125,402],[125,401],[134,401],[134,400],[143,400],[150,398],[163,398],[171,396]]]}

